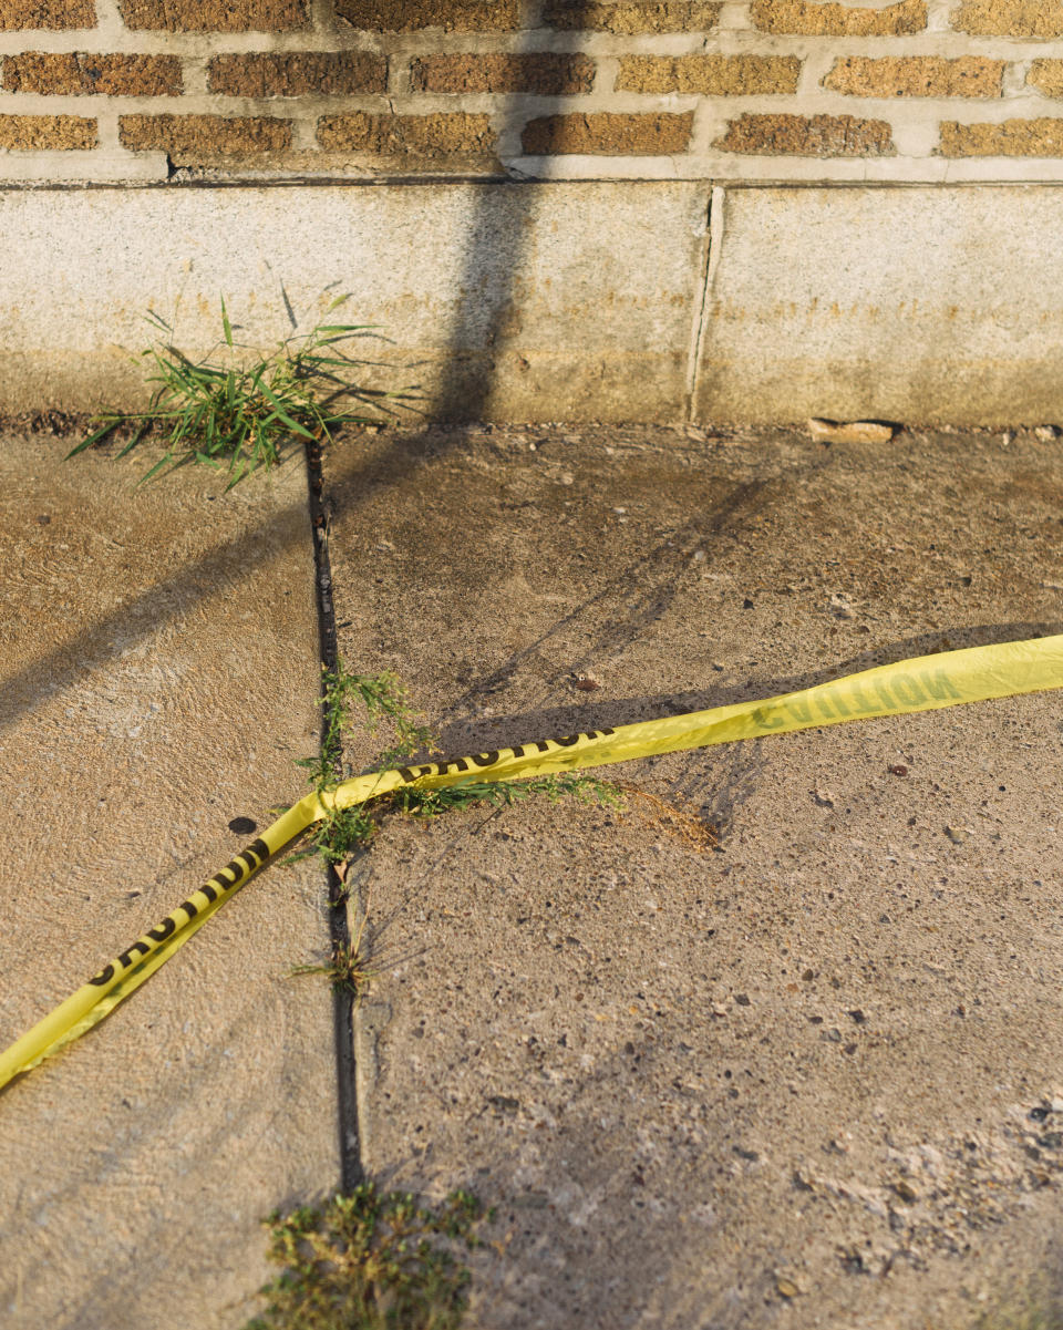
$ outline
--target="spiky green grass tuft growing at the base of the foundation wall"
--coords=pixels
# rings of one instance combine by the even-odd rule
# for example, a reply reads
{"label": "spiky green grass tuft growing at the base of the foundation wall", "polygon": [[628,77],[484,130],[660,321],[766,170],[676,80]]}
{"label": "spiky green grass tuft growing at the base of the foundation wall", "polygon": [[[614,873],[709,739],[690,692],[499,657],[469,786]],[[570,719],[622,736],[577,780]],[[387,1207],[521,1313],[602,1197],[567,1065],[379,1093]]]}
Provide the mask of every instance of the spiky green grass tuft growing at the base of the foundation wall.
{"label": "spiky green grass tuft growing at the base of the foundation wall", "polygon": [[[347,295],[337,297],[326,318],[347,299]],[[291,318],[294,323],[294,315]],[[68,459],[101,443],[120,426],[132,424],[132,436],[118,452],[118,458],[124,458],[154,426],[166,434],[166,451],[141,476],[141,484],[161,471],[189,463],[218,469],[228,464],[226,489],[231,489],[261,467],[281,463],[285,448],[294,440],[331,443],[337,426],[379,424],[383,415],[395,415],[387,402],[408,404],[414,400],[408,391],[386,392],[351,382],[355,367],[370,362],[347,355],[342,343],[378,336],[374,325],[322,322],[309,332],[294,332],[270,355],[241,367],[210,359],[222,346],[229,352],[245,346],[233,338],[224,299],[222,340],[201,360],[193,360],[173,346],[173,329],[157,314],[149,314],[148,322],[166,338],[137,358],[146,358],[154,368],[148,382],[157,387],[148,410],[108,411],[97,416],[98,428],[72,448]],[[235,356],[228,359],[231,362]],[[366,415],[366,410],[377,414]]]}

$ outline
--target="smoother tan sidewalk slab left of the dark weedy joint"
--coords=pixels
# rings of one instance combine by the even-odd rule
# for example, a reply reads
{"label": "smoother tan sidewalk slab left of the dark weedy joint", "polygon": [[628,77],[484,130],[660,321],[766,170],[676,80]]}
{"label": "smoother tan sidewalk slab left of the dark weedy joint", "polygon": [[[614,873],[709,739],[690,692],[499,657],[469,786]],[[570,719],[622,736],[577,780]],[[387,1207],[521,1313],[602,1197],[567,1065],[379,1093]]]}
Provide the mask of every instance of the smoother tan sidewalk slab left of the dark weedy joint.
{"label": "smoother tan sidewalk slab left of the dark weedy joint", "polygon": [[[305,477],[221,495],[0,447],[0,1043],[242,849],[315,747]],[[0,1095],[0,1322],[235,1330],[259,1221],[339,1181],[321,874],[269,870]]]}

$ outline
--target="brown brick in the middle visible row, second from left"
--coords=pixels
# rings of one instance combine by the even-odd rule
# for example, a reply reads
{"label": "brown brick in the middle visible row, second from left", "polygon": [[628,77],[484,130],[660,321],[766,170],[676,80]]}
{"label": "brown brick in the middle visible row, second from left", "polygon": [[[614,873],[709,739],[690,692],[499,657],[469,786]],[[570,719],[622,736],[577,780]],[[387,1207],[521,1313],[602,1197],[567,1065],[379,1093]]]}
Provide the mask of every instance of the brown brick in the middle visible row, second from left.
{"label": "brown brick in the middle visible row, second from left", "polygon": [[387,90],[387,60],[365,51],[293,51],[214,56],[212,92],[230,97],[343,96]]}

